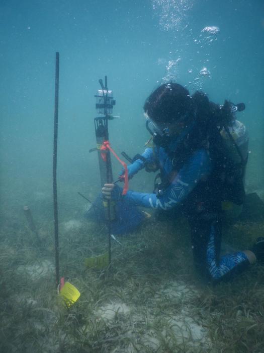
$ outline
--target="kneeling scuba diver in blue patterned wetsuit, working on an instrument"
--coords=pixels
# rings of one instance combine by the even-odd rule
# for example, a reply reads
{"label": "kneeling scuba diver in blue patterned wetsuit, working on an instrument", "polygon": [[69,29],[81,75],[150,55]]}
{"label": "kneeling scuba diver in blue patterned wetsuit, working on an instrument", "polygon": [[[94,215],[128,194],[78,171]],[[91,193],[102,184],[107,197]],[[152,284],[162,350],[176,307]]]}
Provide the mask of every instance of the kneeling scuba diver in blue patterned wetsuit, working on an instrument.
{"label": "kneeling scuba diver in blue patterned wetsuit, working on an instrument", "polygon": [[161,183],[153,193],[128,190],[123,196],[117,185],[102,188],[106,199],[187,216],[195,266],[213,282],[264,262],[264,238],[258,238],[250,250],[220,255],[223,207],[241,206],[245,197],[248,136],[235,119],[236,111],[244,108],[243,103],[227,100],[217,105],[199,91],[191,96],[177,83],[162,84],[144,104],[154,147],[146,148],[128,166],[132,178],[140,169],[156,165],[153,169],[160,169]]}

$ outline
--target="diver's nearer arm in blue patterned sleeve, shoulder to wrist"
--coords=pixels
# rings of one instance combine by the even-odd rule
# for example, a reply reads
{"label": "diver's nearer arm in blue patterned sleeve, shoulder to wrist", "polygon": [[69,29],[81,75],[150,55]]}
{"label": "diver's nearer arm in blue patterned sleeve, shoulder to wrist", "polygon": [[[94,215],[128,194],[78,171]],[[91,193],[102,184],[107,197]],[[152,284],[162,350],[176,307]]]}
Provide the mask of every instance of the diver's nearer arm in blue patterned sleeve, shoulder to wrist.
{"label": "diver's nearer arm in blue patterned sleeve, shoulder to wrist", "polygon": [[163,195],[157,197],[156,194],[129,190],[123,197],[136,206],[168,210],[182,202],[210,171],[211,163],[207,152],[199,150],[185,163]]}

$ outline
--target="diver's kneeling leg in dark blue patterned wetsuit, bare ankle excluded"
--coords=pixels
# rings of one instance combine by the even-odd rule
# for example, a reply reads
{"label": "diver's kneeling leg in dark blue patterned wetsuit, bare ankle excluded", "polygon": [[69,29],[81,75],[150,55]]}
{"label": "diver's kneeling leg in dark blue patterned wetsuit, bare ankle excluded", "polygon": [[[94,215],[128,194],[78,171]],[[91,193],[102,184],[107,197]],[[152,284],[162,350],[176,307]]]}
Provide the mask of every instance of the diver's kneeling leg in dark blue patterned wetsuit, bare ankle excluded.
{"label": "diver's kneeling leg in dark blue patterned wetsuit, bare ankle excluded", "polygon": [[222,236],[220,217],[210,220],[192,218],[189,221],[194,262],[203,277],[213,281],[228,279],[249,266],[249,261],[242,252],[220,256]]}

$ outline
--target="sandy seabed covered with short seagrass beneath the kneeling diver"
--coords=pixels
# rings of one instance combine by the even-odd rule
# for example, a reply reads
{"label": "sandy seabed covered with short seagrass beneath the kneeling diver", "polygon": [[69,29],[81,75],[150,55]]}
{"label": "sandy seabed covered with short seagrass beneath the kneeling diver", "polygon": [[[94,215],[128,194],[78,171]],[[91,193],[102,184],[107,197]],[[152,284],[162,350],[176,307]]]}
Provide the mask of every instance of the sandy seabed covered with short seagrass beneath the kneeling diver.
{"label": "sandy seabed covered with short seagrass beneath the kneeling diver", "polygon": [[[95,270],[84,259],[108,250],[106,226],[65,212],[60,276],[80,291],[67,309],[55,283],[52,219],[38,217],[36,237],[23,213],[2,218],[1,352],[263,351],[264,266],[229,283],[203,283],[185,219],[177,227],[146,219],[119,243],[112,239],[111,268]],[[246,249],[263,230],[263,222],[237,222],[224,233],[225,247]]]}

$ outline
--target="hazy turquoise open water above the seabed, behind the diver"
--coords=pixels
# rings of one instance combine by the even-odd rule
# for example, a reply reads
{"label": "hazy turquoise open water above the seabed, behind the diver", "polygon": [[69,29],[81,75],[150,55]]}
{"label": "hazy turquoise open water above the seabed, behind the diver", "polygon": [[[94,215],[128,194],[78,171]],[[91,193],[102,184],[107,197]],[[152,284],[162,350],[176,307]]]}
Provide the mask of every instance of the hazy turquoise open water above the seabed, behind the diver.
{"label": "hazy turquoise open water above the seabed, behind the diver", "polygon": [[[87,150],[95,145],[94,94],[104,75],[117,100],[114,113],[120,115],[110,126],[117,151],[142,151],[148,138],[142,105],[166,77],[191,92],[202,88],[219,103],[226,98],[245,102],[238,119],[252,141],[263,140],[260,0],[221,5],[204,0],[2,0],[0,16],[4,184],[11,177],[30,180],[33,191],[39,177],[50,177],[55,51],[60,53],[58,173],[63,179],[95,178],[97,159]],[[206,26],[220,32],[208,40],[208,33],[201,32]],[[203,67],[211,78],[195,81]],[[261,158],[258,150],[253,152]]]}

